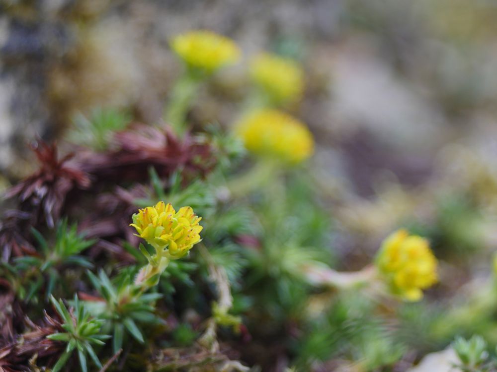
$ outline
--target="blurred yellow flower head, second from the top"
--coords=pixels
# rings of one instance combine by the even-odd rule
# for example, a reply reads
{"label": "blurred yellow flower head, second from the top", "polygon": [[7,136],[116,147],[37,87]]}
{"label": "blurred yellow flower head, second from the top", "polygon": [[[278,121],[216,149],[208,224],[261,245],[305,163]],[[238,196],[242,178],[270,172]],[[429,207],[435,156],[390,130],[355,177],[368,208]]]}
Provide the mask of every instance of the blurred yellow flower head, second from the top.
{"label": "blurred yellow flower head, second from the top", "polygon": [[262,53],[250,63],[252,80],[276,102],[296,101],[304,90],[304,73],[288,58]]}

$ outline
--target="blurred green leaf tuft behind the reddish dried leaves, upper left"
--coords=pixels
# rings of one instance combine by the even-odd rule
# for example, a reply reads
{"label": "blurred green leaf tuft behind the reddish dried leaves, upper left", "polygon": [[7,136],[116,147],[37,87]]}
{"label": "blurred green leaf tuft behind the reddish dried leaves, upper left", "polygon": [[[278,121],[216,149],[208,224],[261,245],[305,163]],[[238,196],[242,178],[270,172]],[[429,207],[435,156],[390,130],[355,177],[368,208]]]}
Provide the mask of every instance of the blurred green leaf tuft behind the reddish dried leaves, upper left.
{"label": "blurred green leaf tuft behind the reddish dried leaves, upper left", "polygon": [[69,141],[87,146],[96,151],[105,150],[113,132],[124,129],[130,122],[127,114],[115,109],[93,109],[86,118],[78,114],[74,127],[68,134]]}

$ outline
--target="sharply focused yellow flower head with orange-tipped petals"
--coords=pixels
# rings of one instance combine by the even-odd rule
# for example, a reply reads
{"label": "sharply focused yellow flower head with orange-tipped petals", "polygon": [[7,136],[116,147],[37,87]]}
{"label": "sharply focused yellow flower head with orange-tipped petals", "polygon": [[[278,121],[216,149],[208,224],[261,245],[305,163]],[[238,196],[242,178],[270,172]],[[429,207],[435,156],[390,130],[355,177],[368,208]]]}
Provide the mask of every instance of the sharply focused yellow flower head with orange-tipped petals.
{"label": "sharply focused yellow flower head with orange-tipped petals", "polygon": [[160,201],[135,213],[130,226],[138,232],[136,236],[156,248],[159,257],[175,259],[184,256],[200,241],[202,226],[198,223],[201,219],[191,207],[182,207],[176,212],[170,203]]}

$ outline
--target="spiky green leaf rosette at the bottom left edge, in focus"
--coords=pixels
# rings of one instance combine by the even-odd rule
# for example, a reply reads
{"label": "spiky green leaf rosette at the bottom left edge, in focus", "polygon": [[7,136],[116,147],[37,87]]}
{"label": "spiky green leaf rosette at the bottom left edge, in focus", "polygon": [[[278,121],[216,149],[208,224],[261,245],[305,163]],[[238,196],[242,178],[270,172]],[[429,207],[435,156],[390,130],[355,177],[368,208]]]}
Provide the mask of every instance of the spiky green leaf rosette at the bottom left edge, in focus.
{"label": "spiky green leaf rosette at the bottom left edge, in focus", "polygon": [[53,333],[47,338],[67,344],[66,350],[53,367],[52,372],[60,371],[74,351],[78,353],[82,372],[88,370],[87,356],[90,357],[95,366],[102,368],[102,364],[91,345],[103,346],[105,345],[104,340],[110,337],[100,334],[100,329],[105,320],[91,318],[90,313],[85,310],[76,295],[74,297],[74,307],[71,310],[66,308],[62,300],[57,301],[53,296],[50,297],[50,302],[59,313],[63,321],[62,328],[66,332]]}

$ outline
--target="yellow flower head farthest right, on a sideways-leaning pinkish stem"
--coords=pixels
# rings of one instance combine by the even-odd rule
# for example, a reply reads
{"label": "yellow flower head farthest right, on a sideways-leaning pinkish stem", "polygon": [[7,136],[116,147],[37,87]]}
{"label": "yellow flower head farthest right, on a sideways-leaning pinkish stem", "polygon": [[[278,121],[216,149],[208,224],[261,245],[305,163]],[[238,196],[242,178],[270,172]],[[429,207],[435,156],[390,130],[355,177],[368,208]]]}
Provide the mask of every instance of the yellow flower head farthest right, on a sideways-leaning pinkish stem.
{"label": "yellow flower head farthest right, on a sideways-leaning pinkish stem", "polygon": [[383,242],[376,266],[395,294],[409,301],[423,297],[422,290],[437,282],[437,259],[428,241],[398,230]]}

